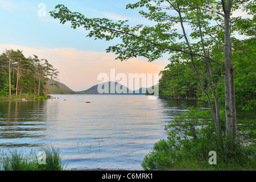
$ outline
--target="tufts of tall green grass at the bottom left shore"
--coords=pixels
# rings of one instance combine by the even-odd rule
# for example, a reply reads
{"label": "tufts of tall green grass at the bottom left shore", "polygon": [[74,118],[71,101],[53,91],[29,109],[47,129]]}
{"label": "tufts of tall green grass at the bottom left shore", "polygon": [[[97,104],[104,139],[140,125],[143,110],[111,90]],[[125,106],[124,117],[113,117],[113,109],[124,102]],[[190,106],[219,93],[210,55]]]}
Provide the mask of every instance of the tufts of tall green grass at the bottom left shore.
{"label": "tufts of tall green grass at the bottom left shore", "polygon": [[1,171],[64,171],[67,167],[59,148],[43,147],[46,154],[46,164],[38,163],[38,156],[34,151],[24,155],[23,151],[13,150],[1,152]]}

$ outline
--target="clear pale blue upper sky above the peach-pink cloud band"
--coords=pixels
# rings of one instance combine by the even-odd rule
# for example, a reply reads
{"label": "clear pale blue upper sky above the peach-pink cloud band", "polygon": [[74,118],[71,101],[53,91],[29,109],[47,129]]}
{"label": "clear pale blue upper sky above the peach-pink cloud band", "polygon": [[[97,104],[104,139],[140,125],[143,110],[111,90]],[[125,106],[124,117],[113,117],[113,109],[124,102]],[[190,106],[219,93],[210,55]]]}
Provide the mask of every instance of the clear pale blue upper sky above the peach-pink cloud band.
{"label": "clear pale blue upper sky above the peach-pink cloud band", "polygon": [[[68,25],[59,24],[48,12],[58,4],[86,16],[130,19],[138,24],[142,17],[138,10],[126,10],[127,2],[134,1],[15,1],[0,0],[1,44],[22,44],[34,48],[72,47],[86,51],[105,51],[113,43],[85,38],[83,30],[73,30]],[[39,3],[46,5],[46,17],[39,17]],[[139,19],[138,19],[139,18]]]}

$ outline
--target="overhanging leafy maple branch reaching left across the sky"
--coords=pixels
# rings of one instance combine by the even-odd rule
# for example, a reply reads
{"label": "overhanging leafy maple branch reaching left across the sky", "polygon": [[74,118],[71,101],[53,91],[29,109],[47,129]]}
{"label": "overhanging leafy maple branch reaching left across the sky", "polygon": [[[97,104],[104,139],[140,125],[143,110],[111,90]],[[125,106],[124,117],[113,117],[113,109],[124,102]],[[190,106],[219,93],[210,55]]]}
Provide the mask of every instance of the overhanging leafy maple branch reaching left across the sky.
{"label": "overhanging leafy maple branch reaching left across the sky", "polygon": [[[89,30],[88,37],[107,41],[115,38],[121,39],[121,44],[110,46],[106,49],[107,52],[116,53],[118,55],[117,59],[119,60],[123,61],[131,57],[143,56],[147,57],[148,61],[154,61],[166,53],[170,54],[172,59],[174,56],[184,59],[185,55],[183,55],[183,53],[188,53],[186,43],[176,42],[177,38],[184,38],[184,35],[179,34],[175,27],[177,21],[179,22],[179,17],[172,16],[162,11],[160,5],[163,2],[164,1],[155,1],[155,3],[159,5],[155,6],[151,4],[151,1],[139,1],[133,5],[129,4],[126,6],[127,9],[146,7],[148,12],[141,10],[139,13],[150,20],[154,20],[155,26],[139,24],[131,27],[128,21],[119,20],[118,22],[113,22],[106,18],[86,18],[86,16],[81,13],[70,11],[68,7],[64,5],[57,5],[55,10],[51,11],[50,14],[53,18],[59,19],[62,24],[71,22],[71,27],[74,29],[83,27],[85,30]],[[176,6],[175,1],[171,1],[171,3]],[[192,6],[196,4],[193,1],[189,3],[191,3]],[[189,6],[187,2],[183,3],[183,5]],[[206,8],[204,6],[208,8],[208,3],[205,2],[201,8]],[[170,10],[174,9],[170,8]],[[195,14],[195,9],[191,10],[193,10]],[[184,10],[183,13],[186,14],[188,12]],[[190,21],[191,17],[196,18],[195,15],[191,16],[191,14],[186,14],[184,21]],[[212,19],[210,16],[207,16],[207,18]],[[202,24],[203,26],[209,25],[206,20]],[[193,26],[195,26],[195,24],[193,24]],[[206,34],[206,32],[204,32],[204,34]],[[193,38],[199,38],[199,35],[194,35]],[[210,43],[210,40],[208,43]],[[199,45],[201,45],[201,43],[199,43]],[[203,56],[199,45],[195,46],[194,51],[197,55]]]}

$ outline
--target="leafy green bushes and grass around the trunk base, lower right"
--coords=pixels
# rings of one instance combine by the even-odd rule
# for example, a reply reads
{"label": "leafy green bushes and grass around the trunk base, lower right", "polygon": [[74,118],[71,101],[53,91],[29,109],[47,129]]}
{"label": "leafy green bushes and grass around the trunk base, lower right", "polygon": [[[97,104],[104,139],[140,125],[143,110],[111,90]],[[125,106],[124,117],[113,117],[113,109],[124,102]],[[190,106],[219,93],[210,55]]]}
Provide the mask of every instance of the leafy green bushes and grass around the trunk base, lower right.
{"label": "leafy green bushes and grass around the trunk base, lower right", "polygon": [[[144,157],[144,170],[256,169],[255,121],[241,121],[236,150],[230,150],[232,140],[214,133],[210,111],[189,109],[166,126],[168,137],[156,142]],[[224,133],[224,126],[221,128]],[[209,164],[210,151],[216,151],[217,164]]]}

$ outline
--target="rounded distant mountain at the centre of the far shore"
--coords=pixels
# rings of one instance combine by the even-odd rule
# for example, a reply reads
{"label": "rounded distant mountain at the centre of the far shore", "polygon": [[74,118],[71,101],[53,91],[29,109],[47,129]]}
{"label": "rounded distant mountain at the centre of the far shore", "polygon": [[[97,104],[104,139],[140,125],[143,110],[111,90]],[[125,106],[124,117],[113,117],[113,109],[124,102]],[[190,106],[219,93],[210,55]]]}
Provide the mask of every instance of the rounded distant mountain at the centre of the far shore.
{"label": "rounded distant mountain at the centre of the far shore", "polygon": [[[106,88],[105,88],[106,86]],[[99,90],[98,90],[99,88]],[[92,86],[87,90],[79,92],[80,94],[146,94],[146,88],[140,88],[139,90],[130,90],[124,85],[118,82],[103,82]]]}

